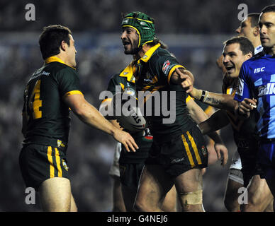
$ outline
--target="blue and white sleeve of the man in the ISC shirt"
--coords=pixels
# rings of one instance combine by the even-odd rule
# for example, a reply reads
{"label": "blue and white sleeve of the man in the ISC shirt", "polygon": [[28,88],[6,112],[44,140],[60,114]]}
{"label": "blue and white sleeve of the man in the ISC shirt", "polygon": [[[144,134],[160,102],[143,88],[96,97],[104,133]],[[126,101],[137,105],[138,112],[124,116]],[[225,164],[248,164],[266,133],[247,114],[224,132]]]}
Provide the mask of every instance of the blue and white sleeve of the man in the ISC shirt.
{"label": "blue and white sleeve of the man in the ISC shirt", "polygon": [[252,99],[251,91],[249,88],[249,76],[247,73],[247,69],[245,63],[242,64],[242,68],[240,70],[239,80],[237,84],[237,90],[235,93],[234,100],[241,102],[245,98]]}

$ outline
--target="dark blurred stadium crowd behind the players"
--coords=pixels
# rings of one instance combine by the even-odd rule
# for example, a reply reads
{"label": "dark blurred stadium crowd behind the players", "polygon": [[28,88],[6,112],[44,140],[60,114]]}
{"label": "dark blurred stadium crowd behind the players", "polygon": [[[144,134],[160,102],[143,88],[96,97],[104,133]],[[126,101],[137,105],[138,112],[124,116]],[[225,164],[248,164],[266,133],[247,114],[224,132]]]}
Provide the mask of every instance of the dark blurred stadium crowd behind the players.
{"label": "dark blurred stadium crowd behind the players", "polygon": [[[25,18],[34,4],[35,20]],[[247,0],[43,0],[0,2],[0,211],[40,211],[25,203],[25,185],[18,167],[21,150],[23,90],[30,74],[43,65],[38,47],[42,28],[61,24],[73,32],[77,71],[86,99],[99,107],[99,94],[114,73],[131,61],[120,42],[121,12],[142,11],[155,18],[157,35],[196,77],[195,86],[221,92],[222,76],[215,64],[223,42],[240,25],[238,6],[259,12],[274,1]],[[235,145],[230,126],[221,131],[229,150],[226,167],[217,162],[203,176],[206,211],[225,211],[223,194]],[[72,114],[67,159],[72,193],[80,211],[110,211],[112,180],[108,169],[116,142],[89,128]]]}

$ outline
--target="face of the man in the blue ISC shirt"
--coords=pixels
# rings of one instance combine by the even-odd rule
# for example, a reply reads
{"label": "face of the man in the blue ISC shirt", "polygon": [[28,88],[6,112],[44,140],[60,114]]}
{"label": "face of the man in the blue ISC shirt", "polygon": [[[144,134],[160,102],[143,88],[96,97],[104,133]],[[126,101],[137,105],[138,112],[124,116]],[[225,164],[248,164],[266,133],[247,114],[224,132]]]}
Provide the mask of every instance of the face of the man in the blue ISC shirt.
{"label": "face of the man in the blue ISC shirt", "polygon": [[262,13],[259,18],[260,37],[264,48],[275,54],[275,12]]}

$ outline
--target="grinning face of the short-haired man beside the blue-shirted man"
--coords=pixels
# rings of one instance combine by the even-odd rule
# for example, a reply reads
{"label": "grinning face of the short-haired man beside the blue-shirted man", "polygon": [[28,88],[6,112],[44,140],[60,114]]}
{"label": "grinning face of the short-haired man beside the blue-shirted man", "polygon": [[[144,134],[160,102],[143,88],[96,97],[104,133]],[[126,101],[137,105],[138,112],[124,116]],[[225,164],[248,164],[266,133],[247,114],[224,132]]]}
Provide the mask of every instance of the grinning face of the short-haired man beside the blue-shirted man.
{"label": "grinning face of the short-haired man beside the blue-shirted man", "polygon": [[223,49],[223,65],[230,78],[237,78],[242,67],[242,63],[252,57],[252,54],[243,54],[240,43],[225,45]]}

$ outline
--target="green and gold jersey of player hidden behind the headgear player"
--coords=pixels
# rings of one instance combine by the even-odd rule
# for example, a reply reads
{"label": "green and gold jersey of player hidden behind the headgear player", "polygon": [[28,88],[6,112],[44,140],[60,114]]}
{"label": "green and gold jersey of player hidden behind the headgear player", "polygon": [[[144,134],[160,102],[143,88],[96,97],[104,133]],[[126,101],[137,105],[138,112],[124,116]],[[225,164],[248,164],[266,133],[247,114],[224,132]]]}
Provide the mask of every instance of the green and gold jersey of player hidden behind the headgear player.
{"label": "green and gold jersey of player hidden behind the headgear player", "polygon": [[[116,95],[116,85],[120,85],[121,92],[123,92],[126,87],[135,90],[135,77],[133,76],[133,73],[127,73],[123,70],[111,78],[107,90],[113,93],[113,95]],[[104,101],[108,101],[108,99],[103,100],[103,102]],[[130,134],[133,136],[135,143],[138,144],[139,149],[135,153],[128,153],[123,146],[123,152],[121,153],[123,157],[120,157],[120,162],[137,163],[148,156],[148,152],[152,145],[152,136],[147,136],[148,131],[140,131],[138,133]]]}

